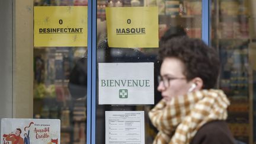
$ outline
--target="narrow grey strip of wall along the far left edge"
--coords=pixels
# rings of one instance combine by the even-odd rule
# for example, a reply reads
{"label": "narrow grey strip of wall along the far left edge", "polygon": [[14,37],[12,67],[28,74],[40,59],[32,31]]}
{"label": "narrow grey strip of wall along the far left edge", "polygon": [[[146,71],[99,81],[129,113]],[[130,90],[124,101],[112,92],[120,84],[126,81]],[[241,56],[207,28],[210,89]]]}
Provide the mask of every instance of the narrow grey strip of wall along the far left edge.
{"label": "narrow grey strip of wall along the far left edge", "polygon": [[0,119],[12,117],[12,1],[0,1]]}

